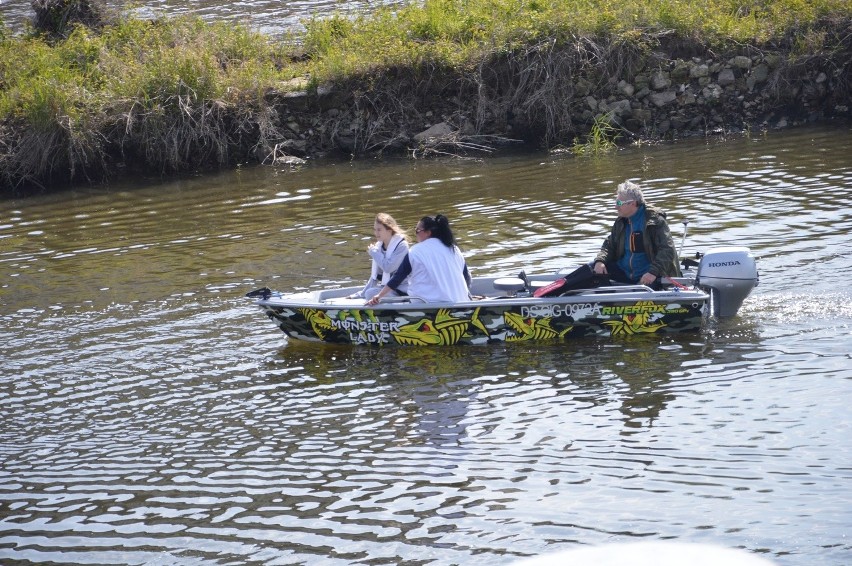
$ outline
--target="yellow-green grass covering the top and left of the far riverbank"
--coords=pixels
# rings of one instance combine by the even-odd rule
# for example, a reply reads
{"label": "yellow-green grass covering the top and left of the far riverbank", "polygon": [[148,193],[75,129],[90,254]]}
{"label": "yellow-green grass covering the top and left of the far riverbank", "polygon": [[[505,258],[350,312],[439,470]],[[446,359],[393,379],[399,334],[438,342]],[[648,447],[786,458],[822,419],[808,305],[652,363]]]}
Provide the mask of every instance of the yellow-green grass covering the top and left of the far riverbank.
{"label": "yellow-green grass covering the top and left of the far riverbank", "polygon": [[[391,77],[402,91],[388,97],[384,86],[368,97],[399,105],[406,88],[541,45],[594,54],[602,46],[648,52],[665,41],[669,49],[830,57],[849,48],[850,22],[847,0],[427,0],[313,20],[287,39],[191,18],[117,18],[49,35],[3,28],[0,184],[24,193],[100,183],[128,169],[171,174],[269,161],[292,139],[285,130],[311,135],[304,121],[283,118],[299,91],[370,91]],[[303,112],[317,110],[299,100]],[[560,101],[542,104],[546,113]],[[547,144],[561,141],[570,140]]]}

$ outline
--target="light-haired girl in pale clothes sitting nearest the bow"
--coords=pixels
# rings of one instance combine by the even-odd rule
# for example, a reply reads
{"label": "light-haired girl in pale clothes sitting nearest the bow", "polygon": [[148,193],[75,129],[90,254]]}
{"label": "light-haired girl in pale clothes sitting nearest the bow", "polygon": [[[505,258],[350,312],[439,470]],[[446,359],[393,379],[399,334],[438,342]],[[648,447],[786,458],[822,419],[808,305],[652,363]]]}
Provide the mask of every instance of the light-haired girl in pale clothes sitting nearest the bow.
{"label": "light-haired girl in pale clothes sitting nearest the bow", "polygon": [[[376,241],[367,246],[367,253],[372,258],[370,279],[364,288],[349,295],[350,299],[370,299],[376,295],[382,285],[387,285],[396,270],[408,254],[408,234],[399,227],[390,214],[380,212],[373,222],[373,234]],[[405,295],[408,283],[401,283],[396,290],[389,293]]]}

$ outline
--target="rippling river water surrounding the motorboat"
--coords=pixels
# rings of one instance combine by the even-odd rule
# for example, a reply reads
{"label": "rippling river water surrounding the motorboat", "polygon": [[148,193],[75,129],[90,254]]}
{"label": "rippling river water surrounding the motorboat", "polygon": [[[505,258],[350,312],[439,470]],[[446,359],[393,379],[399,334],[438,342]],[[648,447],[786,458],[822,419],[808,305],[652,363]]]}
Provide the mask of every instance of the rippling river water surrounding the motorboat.
{"label": "rippling river water surrounding the motorboat", "polygon": [[[594,161],[249,169],[0,203],[0,562],[510,564],[631,540],[842,565],[848,129]],[[734,320],[664,339],[288,344],[246,291],[360,282],[373,215],[474,273],[585,261],[631,178],[684,253],[748,245]]]}

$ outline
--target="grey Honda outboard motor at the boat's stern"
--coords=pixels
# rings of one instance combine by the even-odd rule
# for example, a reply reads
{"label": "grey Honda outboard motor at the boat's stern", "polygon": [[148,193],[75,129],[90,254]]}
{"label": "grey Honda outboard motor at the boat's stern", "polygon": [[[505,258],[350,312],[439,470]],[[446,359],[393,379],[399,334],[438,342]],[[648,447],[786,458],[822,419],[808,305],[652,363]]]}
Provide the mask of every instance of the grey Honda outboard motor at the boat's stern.
{"label": "grey Honda outboard motor at the boat's stern", "polygon": [[759,281],[757,263],[744,246],[710,248],[695,277],[696,285],[710,294],[710,314],[717,317],[737,314]]}

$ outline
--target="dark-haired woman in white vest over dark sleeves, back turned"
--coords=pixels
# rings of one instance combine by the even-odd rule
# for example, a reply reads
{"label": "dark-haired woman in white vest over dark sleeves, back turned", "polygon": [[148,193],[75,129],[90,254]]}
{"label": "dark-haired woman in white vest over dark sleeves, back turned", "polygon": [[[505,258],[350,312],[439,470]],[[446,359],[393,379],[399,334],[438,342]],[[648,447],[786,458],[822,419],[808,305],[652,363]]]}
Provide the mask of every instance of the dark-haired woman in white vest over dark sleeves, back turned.
{"label": "dark-haired woman in white vest over dark sleeves, back turned", "polygon": [[375,296],[375,305],[408,279],[408,294],[427,303],[467,301],[470,298],[470,272],[456,245],[450,222],[443,214],[424,216],[414,230],[417,243],[411,246],[396,274]]}

